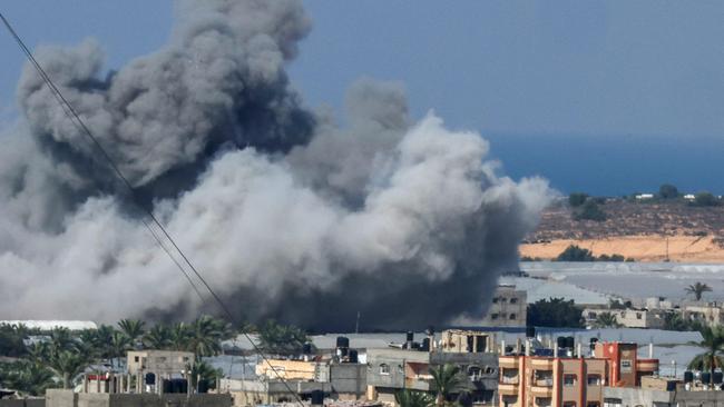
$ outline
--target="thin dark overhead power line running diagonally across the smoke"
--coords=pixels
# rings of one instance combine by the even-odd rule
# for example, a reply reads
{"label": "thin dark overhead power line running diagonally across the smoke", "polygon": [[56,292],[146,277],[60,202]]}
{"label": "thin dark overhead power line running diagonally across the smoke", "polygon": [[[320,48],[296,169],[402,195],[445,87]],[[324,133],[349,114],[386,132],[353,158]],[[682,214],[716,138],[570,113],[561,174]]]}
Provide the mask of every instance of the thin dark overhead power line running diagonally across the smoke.
{"label": "thin dark overhead power line running diagonally across the smoke", "polygon": [[[188,257],[186,257],[184,251],[178,247],[178,245],[176,244],[174,238],[172,238],[172,236],[168,234],[166,228],[162,225],[162,222],[158,220],[158,218],[156,218],[154,212],[150,209],[146,208],[144,205],[140,204],[139,199],[137,198],[136,190],[133,187],[133,185],[130,183],[130,181],[128,180],[128,178],[126,178],[126,176],[124,176],[124,173],[120,171],[120,168],[116,165],[116,162],[110,157],[110,155],[106,151],[106,149],[98,141],[96,136],[94,136],[94,133],[86,126],[86,123],[80,119],[80,115],[78,115],[78,112],[72,107],[72,105],[70,105],[70,102],[66,99],[66,97],[62,95],[62,92],[60,92],[60,89],[58,89],[56,87],[56,85],[50,79],[48,73],[46,73],[46,71],[42,69],[40,63],[38,63],[38,61],[36,60],[36,58],[32,54],[32,52],[30,51],[30,49],[28,49],[26,43],[22,41],[20,36],[16,32],[16,30],[12,28],[12,26],[10,24],[8,19],[6,19],[6,17],[4,17],[4,14],[2,12],[0,12],[0,19],[2,19],[2,23],[4,24],[4,27],[10,32],[10,36],[12,36],[12,38],[16,40],[16,42],[18,43],[18,46],[20,47],[22,52],[26,54],[26,57],[30,61],[30,63],[35,67],[35,69],[38,71],[38,73],[40,75],[42,80],[46,82],[46,85],[50,89],[51,93],[53,95],[53,97],[56,98],[58,103],[60,103],[60,106],[63,109],[63,111],[66,112],[66,116],[68,117],[68,119],[70,119],[70,121],[78,128],[78,130],[80,130],[82,133],[86,135],[86,137],[90,140],[91,145],[95,146],[98,149],[98,151],[100,151],[100,153],[102,156],[102,159],[108,163],[108,166],[110,166],[110,168],[116,173],[118,179],[121,180],[121,183],[126,187],[126,189],[128,189],[128,191],[130,192],[130,200],[134,204],[136,204],[136,206],[138,206],[150,218],[151,224],[154,224],[154,225],[156,225],[156,227],[158,227],[158,229],[162,231],[163,236],[170,242],[170,245],[174,247],[176,252],[182,257],[184,262],[192,269],[194,275],[204,285],[204,287],[206,288],[208,294],[211,294],[212,298],[216,301],[216,304],[222,309],[222,311],[226,315],[228,320],[234,322],[235,318],[234,318],[234,315],[232,314],[232,311],[229,310],[229,308],[226,306],[226,304],[224,304],[224,301],[221,299],[221,297],[218,297],[218,295],[216,295],[214,289],[212,289],[209,284],[206,281],[206,279],[204,279],[204,277],[196,269],[196,267],[194,267],[194,265],[190,262]],[[204,297],[202,296],[200,291],[198,290],[198,287],[196,286],[196,284],[194,284],[194,281],[190,278],[189,274],[184,269],[184,267],[182,267],[179,261],[172,255],[170,250],[163,244],[162,237],[156,234],[156,231],[153,229],[151,225],[148,224],[145,219],[141,218],[141,221],[144,222],[146,228],[148,228],[150,234],[154,236],[154,239],[156,240],[156,242],[158,242],[158,245],[166,252],[166,255],[168,255],[168,257],[170,257],[170,259],[174,261],[174,264],[179,269],[179,271],[186,277],[186,280],[194,288],[194,290],[196,291],[196,294],[200,298],[202,302],[204,302]],[[276,368],[270,363],[270,360],[262,353],[262,350],[256,345],[256,343],[254,343],[254,340],[251,338],[251,336],[244,330],[242,331],[242,335],[244,335],[244,337],[250,341],[250,344],[252,344],[252,347],[254,348],[254,351],[262,357],[262,359],[270,366],[270,368],[272,369],[274,375],[282,381],[282,384],[284,384],[284,387],[286,388],[286,390],[290,394],[294,395],[294,397],[296,398],[296,401],[301,406],[304,406],[304,403],[302,401],[302,398],[300,397],[300,395],[296,391],[292,390],[292,388],[290,387],[286,379],[284,379],[284,377],[282,377],[282,375],[276,370]]]}

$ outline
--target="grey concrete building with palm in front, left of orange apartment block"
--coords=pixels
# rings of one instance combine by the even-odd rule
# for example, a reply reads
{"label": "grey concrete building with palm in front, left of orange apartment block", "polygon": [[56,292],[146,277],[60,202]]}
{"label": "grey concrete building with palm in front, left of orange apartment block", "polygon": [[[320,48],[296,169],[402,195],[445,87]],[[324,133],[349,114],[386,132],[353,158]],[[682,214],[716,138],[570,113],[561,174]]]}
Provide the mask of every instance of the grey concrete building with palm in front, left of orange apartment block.
{"label": "grey concrete building with palm in front, left of orange apartment block", "polygon": [[433,390],[430,369],[458,366],[469,378],[473,404],[497,399],[498,355],[491,351],[489,335],[472,330],[447,330],[439,346],[429,349],[368,349],[369,400],[394,403],[402,389]]}

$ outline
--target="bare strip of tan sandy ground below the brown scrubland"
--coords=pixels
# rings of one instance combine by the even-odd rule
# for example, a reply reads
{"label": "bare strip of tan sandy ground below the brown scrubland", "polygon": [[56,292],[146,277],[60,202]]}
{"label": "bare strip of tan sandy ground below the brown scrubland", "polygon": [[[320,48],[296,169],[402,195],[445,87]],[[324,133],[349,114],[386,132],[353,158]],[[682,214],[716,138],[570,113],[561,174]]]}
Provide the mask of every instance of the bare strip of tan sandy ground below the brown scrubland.
{"label": "bare strip of tan sandy ground below the brown scrubland", "polygon": [[[597,240],[552,240],[549,244],[520,245],[520,256],[552,259],[569,245],[589,249],[596,256],[623,255],[637,261],[663,261],[666,259],[666,238],[663,236],[622,236]],[[712,237],[672,236],[668,238],[671,261],[724,262],[724,248]]]}

